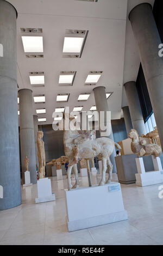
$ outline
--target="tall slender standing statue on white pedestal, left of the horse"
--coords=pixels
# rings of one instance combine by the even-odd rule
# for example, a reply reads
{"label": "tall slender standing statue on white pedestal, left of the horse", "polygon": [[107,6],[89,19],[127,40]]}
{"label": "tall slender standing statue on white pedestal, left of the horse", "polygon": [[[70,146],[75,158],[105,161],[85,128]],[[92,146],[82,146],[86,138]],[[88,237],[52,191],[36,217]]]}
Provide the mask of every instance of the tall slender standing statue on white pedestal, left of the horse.
{"label": "tall slender standing statue on white pedestal, left of the horse", "polygon": [[38,160],[39,160],[39,174],[40,179],[45,178],[45,147],[44,142],[42,141],[43,138],[43,132],[38,131],[37,132],[37,148],[38,148]]}

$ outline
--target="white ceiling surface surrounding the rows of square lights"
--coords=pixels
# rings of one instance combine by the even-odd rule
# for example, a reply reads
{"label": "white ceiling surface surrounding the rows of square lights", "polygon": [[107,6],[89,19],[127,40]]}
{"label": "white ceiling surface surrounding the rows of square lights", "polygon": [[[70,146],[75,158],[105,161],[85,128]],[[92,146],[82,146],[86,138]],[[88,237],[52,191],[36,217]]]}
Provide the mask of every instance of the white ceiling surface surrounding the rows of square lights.
{"label": "white ceiling surface surrounding the rows of square lights", "polygon": [[[46,124],[52,124],[55,107],[84,106],[88,111],[95,105],[92,89],[84,86],[90,71],[103,71],[96,86],[105,86],[114,92],[108,99],[112,119],[121,118],[121,107],[127,105],[123,83],[136,80],[140,59],[133,32],[128,20],[129,11],[142,2],[154,0],[98,0],[97,3],[76,0],[9,0],[17,9],[17,67],[18,86],[29,88],[33,95],[45,94],[46,103],[33,103],[36,108],[46,108]],[[126,22],[127,20],[127,22]],[[20,28],[43,29],[43,59],[26,58]],[[82,58],[62,58],[66,29],[84,29],[89,34]],[[32,88],[29,72],[44,71],[45,87]],[[60,71],[77,71],[72,87],[59,86]],[[58,93],[70,93],[68,102],[56,101]],[[80,93],[91,93],[89,100],[78,102]],[[41,124],[41,123],[40,123]],[[43,123],[45,124],[45,123]]]}

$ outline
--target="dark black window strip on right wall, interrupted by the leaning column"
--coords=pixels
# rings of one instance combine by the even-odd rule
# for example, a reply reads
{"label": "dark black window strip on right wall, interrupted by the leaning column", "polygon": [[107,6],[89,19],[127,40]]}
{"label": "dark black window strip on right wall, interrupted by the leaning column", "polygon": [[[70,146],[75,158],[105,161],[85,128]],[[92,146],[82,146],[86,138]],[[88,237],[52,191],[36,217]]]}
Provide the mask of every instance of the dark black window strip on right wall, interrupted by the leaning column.
{"label": "dark black window strip on right wall, interrupted by the leaning column", "polygon": [[[156,22],[156,26],[158,27],[158,31],[160,34],[161,41],[163,42],[163,1],[155,0],[153,5],[153,15]],[[141,109],[143,118],[145,121],[153,113],[151,100],[148,93],[148,88],[145,80],[145,76],[143,74],[142,65],[140,64],[139,73],[137,75],[136,80],[137,92],[139,94]]]}

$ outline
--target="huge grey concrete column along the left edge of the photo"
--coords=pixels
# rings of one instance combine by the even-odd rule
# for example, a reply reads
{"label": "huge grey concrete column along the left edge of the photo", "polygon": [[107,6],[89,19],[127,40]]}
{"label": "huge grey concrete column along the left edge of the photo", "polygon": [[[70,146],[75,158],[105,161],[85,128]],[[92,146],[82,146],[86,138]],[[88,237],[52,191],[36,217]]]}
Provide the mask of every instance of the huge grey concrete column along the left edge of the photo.
{"label": "huge grey concrete column along the left edge of the photo", "polygon": [[[17,116],[16,9],[0,0],[0,210],[21,204]],[[2,46],[3,45],[3,46]],[[1,188],[2,188],[1,187]]]}

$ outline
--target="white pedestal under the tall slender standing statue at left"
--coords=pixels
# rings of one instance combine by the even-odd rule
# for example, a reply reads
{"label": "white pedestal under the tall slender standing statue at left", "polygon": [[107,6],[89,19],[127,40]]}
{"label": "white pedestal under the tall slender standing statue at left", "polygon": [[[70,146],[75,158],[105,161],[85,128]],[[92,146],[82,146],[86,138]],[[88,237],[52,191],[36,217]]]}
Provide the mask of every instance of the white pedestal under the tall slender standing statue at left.
{"label": "white pedestal under the tall slender standing statue at left", "polygon": [[37,193],[38,198],[35,198],[36,204],[55,201],[55,194],[52,194],[51,179],[43,178],[37,180]]}

